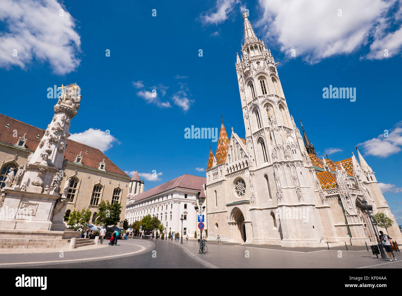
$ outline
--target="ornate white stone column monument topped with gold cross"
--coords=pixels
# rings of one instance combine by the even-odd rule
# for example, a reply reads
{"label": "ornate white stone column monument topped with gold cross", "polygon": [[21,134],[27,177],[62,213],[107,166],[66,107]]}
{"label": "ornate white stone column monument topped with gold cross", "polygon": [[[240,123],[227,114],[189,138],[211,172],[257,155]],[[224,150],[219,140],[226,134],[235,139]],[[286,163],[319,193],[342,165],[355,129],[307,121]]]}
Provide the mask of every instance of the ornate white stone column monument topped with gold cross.
{"label": "ornate white stone column monument topped with gold cross", "polygon": [[[81,95],[77,84],[62,85],[54,116],[28,163],[9,174],[0,192],[0,228],[63,231],[66,199],[60,193],[63,160],[71,119]],[[65,90],[66,88],[66,90]],[[1,205],[2,203],[2,205]]]}

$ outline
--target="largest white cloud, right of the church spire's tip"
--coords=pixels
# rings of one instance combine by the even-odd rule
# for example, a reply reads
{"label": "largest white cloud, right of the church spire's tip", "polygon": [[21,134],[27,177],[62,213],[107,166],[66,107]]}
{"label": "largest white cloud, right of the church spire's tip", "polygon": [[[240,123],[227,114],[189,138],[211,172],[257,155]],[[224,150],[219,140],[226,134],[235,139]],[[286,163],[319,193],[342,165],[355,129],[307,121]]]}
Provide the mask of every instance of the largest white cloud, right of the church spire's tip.
{"label": "largest white cloud, right of the church spire's tip", "polygon": [[[339,54],[349,54],[367,44],[370,36],[383,35],[385,15],[395,0],[259,0],[263,18],[256,24],[264,37],[277,40],[281,51],[295,49],[310,64]],[[342,16],[338,16],[338,9]],[[383,37],[391,49],[400,47],[399,32]],[[372,50],[382,47],[374,41]],[[369,55],[370,56],[370,55]],[[371,55],[372,56],[372,55]],[[376,55],[372,56],[374,58]]]}

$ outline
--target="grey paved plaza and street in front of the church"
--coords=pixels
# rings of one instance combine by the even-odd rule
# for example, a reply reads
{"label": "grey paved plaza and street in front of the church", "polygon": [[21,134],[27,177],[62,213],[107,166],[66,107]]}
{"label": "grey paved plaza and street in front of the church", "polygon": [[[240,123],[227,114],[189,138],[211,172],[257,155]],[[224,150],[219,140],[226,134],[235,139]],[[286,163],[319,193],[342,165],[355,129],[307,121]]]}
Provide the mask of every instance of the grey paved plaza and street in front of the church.
{"label": "grey paved plaza and street in front of the church", "polygon": [[196,239],[183,245],[169,240],[119,240],[117,246],[97,245],[74,250],[2,250],[2,268],[401,268],[398,261],[377,259],[365,247],[281,248],[271,245],[207,243],[198,254]]}

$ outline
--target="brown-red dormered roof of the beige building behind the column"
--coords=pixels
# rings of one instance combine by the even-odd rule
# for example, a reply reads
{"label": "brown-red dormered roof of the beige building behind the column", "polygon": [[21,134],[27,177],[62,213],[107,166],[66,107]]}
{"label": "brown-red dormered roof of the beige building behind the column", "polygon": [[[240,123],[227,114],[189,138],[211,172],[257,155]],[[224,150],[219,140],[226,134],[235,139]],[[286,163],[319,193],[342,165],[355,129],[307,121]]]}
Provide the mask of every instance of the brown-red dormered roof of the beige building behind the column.
{"label": "brown-red dormered roof of the beige building behind the column", "polygon": [[[7,124],[9,125],[8,128],[6,127]],[[25,148],[30,151],[36,150],[41,138],[45,134],[45,131],[43,129],[0,114],[0,142],[9,145],[15,145],[18,137],[13,137],[14,129],[17,130],[18,137],[22,137],[24,136],[24,134],[27,134],[25,138],[27,138],[28,140],[25,144]],[[37,138],[37,135],[39,135],[39,138]],[[85,151],[88,151],[88,153],[85,153]],[[98,169],[98,164],[102,162],[103,158],[105,158],[105,170],[107,173],[129,177],[126,173],[119,169],[116,164],[114,164],[109,158],[107,158],[107,156],[105,156],[105,154],[103,154],[102,151],[100,151],[99,149],[67,139],[64,158],[70,162],[74,162],[75,157],[80,154],[80,152],[82,152],[81,162],[84,166],[88,166],[92,169]]]}

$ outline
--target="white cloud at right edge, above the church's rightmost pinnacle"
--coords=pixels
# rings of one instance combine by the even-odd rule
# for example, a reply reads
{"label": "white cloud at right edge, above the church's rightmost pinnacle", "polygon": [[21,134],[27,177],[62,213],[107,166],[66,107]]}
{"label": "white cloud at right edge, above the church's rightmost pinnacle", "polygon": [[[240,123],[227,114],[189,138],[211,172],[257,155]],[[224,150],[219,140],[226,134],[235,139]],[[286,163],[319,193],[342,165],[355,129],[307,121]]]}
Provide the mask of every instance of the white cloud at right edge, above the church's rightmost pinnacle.
{"label": "white cloud at right edge, above the church's rightmost pinnacle", "polygon": [[402,121],[398,122],[394,129],[386,134],[380,134],[377,138],[367,140],[357,146],[363,146],[365,154],[388,157],[401,151],[402,146]]}

